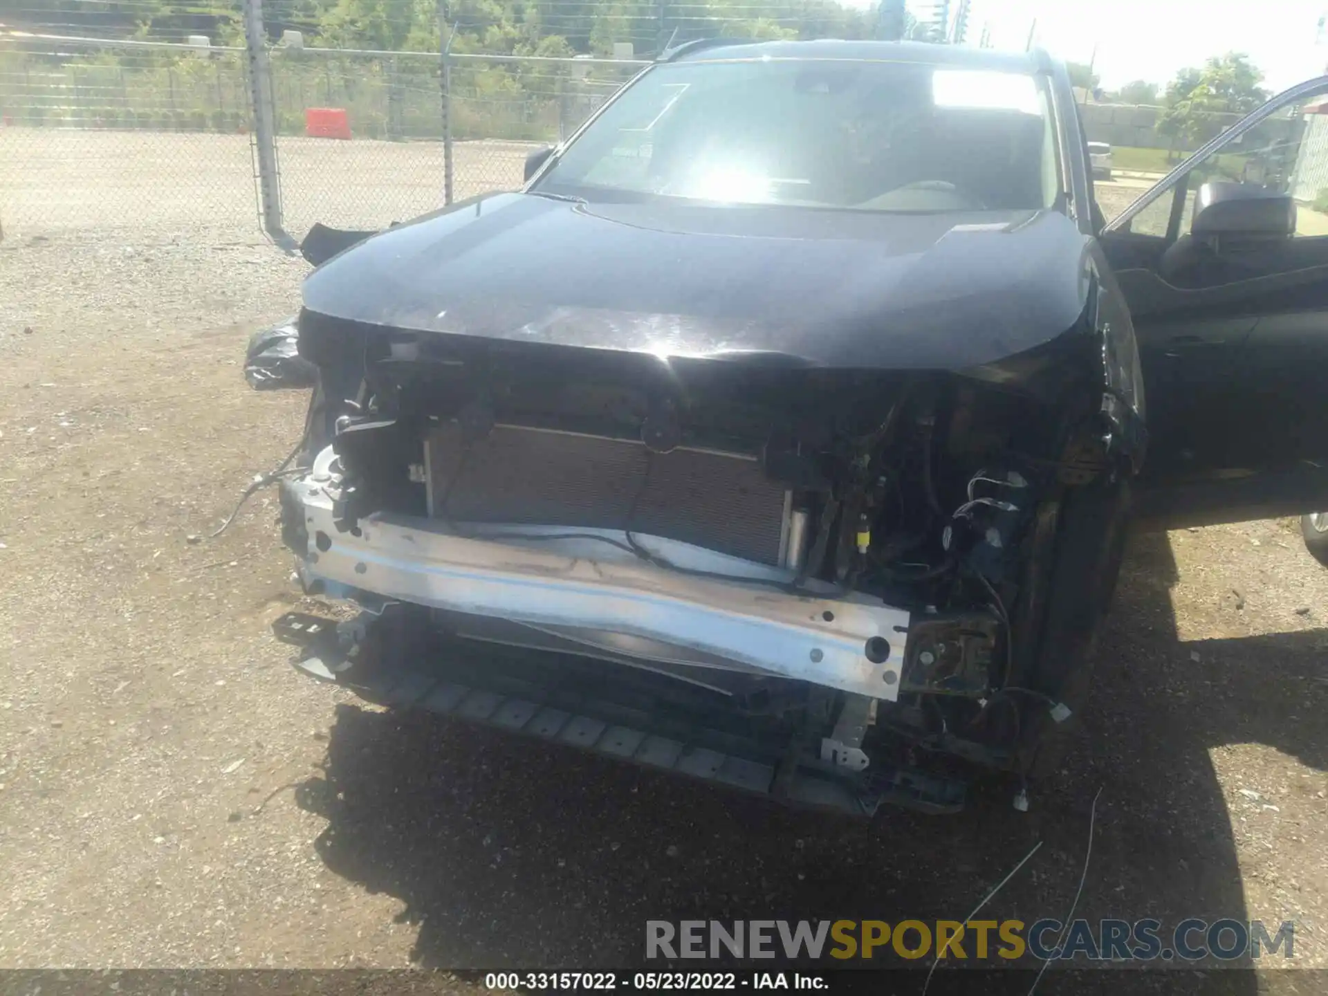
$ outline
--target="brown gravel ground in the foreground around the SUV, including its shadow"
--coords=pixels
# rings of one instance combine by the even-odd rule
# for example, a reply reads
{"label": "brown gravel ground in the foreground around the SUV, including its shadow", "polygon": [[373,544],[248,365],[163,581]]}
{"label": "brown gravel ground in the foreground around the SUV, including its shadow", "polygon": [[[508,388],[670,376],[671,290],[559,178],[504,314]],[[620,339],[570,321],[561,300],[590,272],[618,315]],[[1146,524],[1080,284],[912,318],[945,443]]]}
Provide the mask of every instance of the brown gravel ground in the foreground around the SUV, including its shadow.
{"label": "brown gravel ground in the foreground around the SUV, including its shadow", "polygon": [[268,636],[313,608],[274,495],[186,542],[299,433],[239,360],[304,268],[177,220],[0,243],[0,965],[622,967],[647,918],[960,918],[1038,839],[989,912],[1062,916],[1101,789],[1080,914],[1291,919],[1328,968],[1328,571],[1291,523],[1134,542],[1028,814],[826,818],[385,713]]}

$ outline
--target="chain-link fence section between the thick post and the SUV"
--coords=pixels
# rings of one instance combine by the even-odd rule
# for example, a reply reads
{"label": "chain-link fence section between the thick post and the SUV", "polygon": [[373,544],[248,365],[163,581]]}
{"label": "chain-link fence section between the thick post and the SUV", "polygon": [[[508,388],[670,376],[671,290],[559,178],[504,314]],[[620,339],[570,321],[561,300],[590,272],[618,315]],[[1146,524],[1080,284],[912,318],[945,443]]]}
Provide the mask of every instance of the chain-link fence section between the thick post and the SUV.
{"label": "chain-link fence section between the thick post and the SUV", "polygon": [[[533,149],[575,131],[641,65],[276,49],[271,89],[284,227],[293,235],[313,222],[380,227],[515,190]],[[343,137],[311,135],[311,110],[344,116]]]}

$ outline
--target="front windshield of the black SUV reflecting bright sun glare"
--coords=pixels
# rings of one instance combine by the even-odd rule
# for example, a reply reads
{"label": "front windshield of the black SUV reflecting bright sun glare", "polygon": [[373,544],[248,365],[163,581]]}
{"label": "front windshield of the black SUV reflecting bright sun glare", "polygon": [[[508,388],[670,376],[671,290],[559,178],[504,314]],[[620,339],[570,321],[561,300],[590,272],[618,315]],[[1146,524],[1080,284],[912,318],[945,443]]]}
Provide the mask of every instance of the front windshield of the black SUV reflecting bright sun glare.
{"label": "front windshield of the black SUV reflecting bright sun glare", "polygon": [[861,211],[1052,207],[1040,77],[918,62],[675,62],[644,73],[533,187]]}

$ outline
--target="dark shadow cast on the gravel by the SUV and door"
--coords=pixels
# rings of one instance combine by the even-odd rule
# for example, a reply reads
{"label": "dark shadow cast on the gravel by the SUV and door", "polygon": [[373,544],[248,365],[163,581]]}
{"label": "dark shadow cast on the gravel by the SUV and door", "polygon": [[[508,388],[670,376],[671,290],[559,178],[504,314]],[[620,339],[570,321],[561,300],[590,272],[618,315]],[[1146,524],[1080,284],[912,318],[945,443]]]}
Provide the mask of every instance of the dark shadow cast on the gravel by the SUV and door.
{"label": "dark shadow cast on the gravel by the SUV and door", "polygon": [[[405,903],[402,919],[418,924],[413,959],[425,967],[640,965],[647,919],[963,919],[1038,841],[984,915],[1061,919],[1098,789],[1078,915],[1169,927],[1247,919],[1210,750],[1262,742],[1328,766],[1328,738],[1309,721],[1323,709],[1307,703],[1323,695],[1307,691],[1323,688],[1309,680],[1320,637],[1207,641],[1195,663],[1195,644],[1179,643],[1170,618],[1174,578],[1165,537],[1133,542],[1093,703],[1027,814],[1003,784],[977,790],[960,817],[793,811],[424,713],[353,705],[337,706],[324,774],[296,798],[328,819],[317,849],[331,870]],[[1256,991],[1250,972],[1186,979],[1189,991]],[[912,973],[899,981],[920,989],[922,973],[916,987]],[[940,981],[934,992],[946,991]]]}

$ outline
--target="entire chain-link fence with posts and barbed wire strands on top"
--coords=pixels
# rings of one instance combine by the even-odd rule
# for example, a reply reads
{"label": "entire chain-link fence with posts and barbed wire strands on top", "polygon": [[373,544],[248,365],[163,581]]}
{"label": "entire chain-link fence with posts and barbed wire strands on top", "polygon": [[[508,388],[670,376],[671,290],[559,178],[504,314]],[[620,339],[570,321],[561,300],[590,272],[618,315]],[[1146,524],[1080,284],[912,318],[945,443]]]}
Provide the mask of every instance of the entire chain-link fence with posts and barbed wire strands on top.
{"label": "entire chain-link fence with posts and barbed wire strands on top", "polygon": [[[635,50],[867,31],[833,0],[84,7],[29,4],[0,24],[0,235],[384,227],[518,187],[533,149],[645,65]],[[84,33],[106,37],[69,37]]]}

